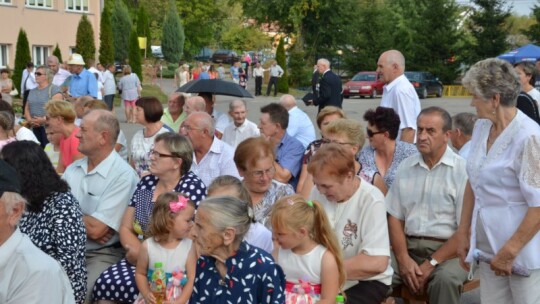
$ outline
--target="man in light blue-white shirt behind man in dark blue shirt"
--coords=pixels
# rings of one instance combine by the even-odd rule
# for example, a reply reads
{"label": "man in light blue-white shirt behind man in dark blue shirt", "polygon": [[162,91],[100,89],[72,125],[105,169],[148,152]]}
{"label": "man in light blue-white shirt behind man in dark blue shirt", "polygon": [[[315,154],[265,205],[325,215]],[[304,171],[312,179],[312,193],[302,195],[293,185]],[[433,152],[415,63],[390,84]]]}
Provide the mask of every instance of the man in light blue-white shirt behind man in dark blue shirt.
{"label": "man in light blue-white shirt behind man in dark blue shirt", "polygon": [[304,149],[316,139],[315,127],[306,112],[296,106],[296,99],[290,94],[285,94],[279,99],[279,104],[289,112],[289,126],[287,134],[298,139]]}

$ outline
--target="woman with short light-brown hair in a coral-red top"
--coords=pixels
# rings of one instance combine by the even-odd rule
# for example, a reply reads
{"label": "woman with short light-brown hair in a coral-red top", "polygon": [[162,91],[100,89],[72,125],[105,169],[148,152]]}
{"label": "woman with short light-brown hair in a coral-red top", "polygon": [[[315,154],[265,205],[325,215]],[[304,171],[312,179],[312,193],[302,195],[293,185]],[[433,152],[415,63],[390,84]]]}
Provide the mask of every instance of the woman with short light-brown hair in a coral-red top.
{"label": "woman with short light-brown hair in a coral-red top", "polygon": [[[30,99],[28,104],[30,103]],[[83,157],[79,152],[79,127],[75,125],[75,108],[69,101],[51,100],[45,105],[47,125],[50,132],[62,134],[60,139],[60,161],[56,171],[63,173],[67,166]]]}

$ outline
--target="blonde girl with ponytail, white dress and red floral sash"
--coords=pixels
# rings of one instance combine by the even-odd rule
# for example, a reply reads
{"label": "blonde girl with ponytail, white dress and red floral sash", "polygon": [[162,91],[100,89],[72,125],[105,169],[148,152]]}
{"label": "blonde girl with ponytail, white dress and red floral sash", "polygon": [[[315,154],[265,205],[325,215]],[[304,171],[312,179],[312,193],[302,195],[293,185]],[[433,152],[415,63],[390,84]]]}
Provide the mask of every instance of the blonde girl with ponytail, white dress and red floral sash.
{"label": "blonde girl with ponytail, white dress and red floral sash", "polygon": [[285,303],[335,303],[345,271],[322,206],[300,195],[286,196],[274,204],[270,220],[275,240],[272,255],[287,278]]}

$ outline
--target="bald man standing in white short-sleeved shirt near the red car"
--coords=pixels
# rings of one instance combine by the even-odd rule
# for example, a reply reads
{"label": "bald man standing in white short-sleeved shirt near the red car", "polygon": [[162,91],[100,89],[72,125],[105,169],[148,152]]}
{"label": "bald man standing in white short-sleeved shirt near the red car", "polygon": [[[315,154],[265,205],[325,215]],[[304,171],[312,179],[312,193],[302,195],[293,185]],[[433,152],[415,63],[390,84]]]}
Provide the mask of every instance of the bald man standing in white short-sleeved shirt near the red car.
{"label": "bald man standing in white short-sleeved shirt near the red car", "polygon": [[398,139],[414,143],[416,118],[420,113],[420,99],[411,82],[405,77],[405,57],[390,50],[382,53],[377,62],[377,73],[385,83],[381,107],[392,108],[399,115]]}

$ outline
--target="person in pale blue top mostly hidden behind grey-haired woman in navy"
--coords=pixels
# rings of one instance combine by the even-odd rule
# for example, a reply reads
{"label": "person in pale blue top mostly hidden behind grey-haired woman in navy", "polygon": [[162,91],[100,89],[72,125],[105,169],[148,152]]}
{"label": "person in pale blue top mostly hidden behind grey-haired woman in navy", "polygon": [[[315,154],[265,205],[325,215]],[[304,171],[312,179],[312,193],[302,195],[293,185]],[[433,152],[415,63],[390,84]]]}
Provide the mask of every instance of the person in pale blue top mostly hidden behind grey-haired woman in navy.
{"label": "person in pale blue top mostly hidden behind grey-haired woman in navy", "polygon": [[[245,202],[251,201],[249,192],[242,185],[242,182],[230,175],[216,177],[208,187],[208,197],[220,195],[237,197]],[[255,221],[251,223],[251,227],[244,236],[244,240],[270,254],[272,253],[272,232],[261,223]]]}

